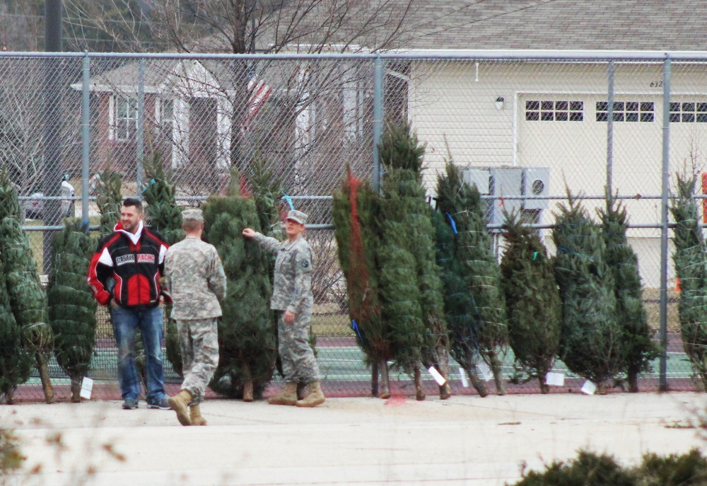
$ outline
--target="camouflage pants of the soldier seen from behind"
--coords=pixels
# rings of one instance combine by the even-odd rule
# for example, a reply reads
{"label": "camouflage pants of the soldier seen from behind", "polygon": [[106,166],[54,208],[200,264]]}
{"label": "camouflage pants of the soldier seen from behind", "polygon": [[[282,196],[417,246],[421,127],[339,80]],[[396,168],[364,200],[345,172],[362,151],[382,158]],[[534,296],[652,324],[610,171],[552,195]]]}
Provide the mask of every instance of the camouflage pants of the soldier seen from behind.
{"label": "camouflage pants of the soldier seen from behind", "polygon": [[177,320],[177,330],[184,373],[182,390],[194,397],[189,405],[197,405],[204,400],[204,390],[218,366],[216,319]]}

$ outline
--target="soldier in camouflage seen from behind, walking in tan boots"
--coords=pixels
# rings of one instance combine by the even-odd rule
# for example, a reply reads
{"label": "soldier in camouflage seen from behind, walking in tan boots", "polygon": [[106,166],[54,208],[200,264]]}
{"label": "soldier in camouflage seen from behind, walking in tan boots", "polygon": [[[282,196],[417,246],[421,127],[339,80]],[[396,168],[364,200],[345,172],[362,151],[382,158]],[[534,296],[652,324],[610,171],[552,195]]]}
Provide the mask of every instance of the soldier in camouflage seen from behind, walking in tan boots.
{"label": "soldier in camouflage seen from behind, walking in tan boots", "polygon": [[221,317],[219,302],[226,299],[226,274],[216,248],[201,241],[201,210],[182,212],[182,221],[187,236],[165,255],[165,284],[173,296],[172,318],[177,321],[184,365],[182,390],[169,403],[180,424],[206,425],[199,403],[218,366],[216,321]]}

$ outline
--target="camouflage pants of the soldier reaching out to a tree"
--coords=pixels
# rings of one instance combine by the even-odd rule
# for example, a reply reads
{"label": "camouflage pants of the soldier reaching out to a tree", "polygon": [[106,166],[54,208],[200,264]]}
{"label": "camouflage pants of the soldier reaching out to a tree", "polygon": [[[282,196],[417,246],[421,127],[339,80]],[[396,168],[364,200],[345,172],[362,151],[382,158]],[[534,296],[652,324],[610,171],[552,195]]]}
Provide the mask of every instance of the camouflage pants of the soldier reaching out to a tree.
{"label": "camouflage pants of the soldier reaching out to a tree", "polygon": [[285,381],[309,383],[319,379],[319,365],[309,345],[311,309],[300,312],[292,324],[285,323],[285,313],[278,312],[277,335]]}

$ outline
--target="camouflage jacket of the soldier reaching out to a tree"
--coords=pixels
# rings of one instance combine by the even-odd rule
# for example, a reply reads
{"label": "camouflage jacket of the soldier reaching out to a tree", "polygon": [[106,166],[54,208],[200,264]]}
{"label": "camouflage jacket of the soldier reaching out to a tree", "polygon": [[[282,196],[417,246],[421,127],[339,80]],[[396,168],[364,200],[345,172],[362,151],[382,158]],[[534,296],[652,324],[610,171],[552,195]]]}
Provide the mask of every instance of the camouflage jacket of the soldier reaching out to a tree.
{"label": "camouflage jacket of the soldier reaching out to a tree", "polygon": [[280,242],[256,233],[255,241],[265,250],[277,254],[270,308],[299,313],[312,307],[312,266],[314,255],[309,243],[300,236],[295,241]]}

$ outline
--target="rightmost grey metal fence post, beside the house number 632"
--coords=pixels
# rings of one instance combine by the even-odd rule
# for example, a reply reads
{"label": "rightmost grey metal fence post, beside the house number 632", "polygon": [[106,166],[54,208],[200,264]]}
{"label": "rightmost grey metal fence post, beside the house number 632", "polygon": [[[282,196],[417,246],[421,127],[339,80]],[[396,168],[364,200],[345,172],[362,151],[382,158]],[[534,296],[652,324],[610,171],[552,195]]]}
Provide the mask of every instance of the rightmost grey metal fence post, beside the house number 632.
{"label": "rightmost grey metal fence post, beside the house number 632", "polygon": [[660,199],[660,385],[667,386],[667,216],[668,191],[670,190],[670,54],[663,64],[663,140],[662,140],[662,194]]}

